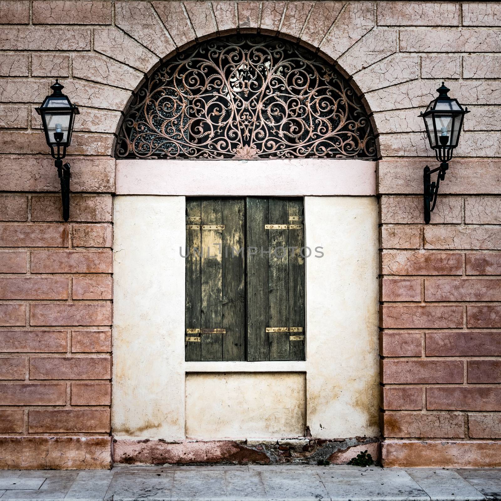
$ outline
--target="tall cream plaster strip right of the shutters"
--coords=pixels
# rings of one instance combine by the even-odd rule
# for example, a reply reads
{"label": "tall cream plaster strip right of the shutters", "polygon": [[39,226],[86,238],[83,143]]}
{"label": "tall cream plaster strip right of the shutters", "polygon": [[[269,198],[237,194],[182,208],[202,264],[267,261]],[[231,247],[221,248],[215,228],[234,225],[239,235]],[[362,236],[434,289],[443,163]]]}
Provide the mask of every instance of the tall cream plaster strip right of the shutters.
{"label": "tall cream plaster strip right of the shutters", "polygon": [[306,197],[307,425],[318,438],[379,436],[375,197]]}

